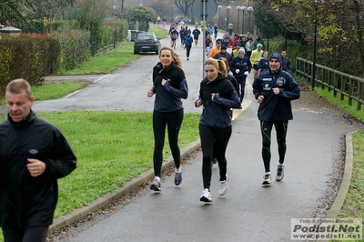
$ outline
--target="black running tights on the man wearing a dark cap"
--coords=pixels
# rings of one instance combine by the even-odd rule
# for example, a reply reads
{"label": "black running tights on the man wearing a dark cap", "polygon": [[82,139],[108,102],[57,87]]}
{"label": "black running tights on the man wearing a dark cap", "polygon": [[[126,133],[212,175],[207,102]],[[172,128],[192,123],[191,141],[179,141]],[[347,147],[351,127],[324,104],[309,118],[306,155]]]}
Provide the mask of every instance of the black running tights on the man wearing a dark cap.
{"label": "black running tights on the man wearing a dark cap", "polygon": [[264,168],[266,172],[270,171],[270,135],[272,133],[273,126],[276,128],[277,143],[278,143],[278,156],[279,164],[284,163],[284,158],[286,155],[287,144],[286,136],[288,129],[288,120],[284,121],[262,121],[260,120],[260,130],[263,138],[262,156],[264,162]]}

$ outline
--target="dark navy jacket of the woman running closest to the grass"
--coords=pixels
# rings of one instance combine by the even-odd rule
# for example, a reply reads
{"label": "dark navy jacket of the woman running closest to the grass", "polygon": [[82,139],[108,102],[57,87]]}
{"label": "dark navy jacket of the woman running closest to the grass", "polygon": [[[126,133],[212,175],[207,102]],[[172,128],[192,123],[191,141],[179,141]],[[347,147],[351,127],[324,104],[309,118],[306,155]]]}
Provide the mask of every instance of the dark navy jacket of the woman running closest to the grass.
{"label": "dark navy jacket of the woman running closest to the grass", "polygon": [[[168,80],[165,86],[162,79]],[[181,98],[188,96],[188,87],[185,72],[172,63],[163,69],[159,62],[153,67],[153,91],[156,94],[154,110],[159,112],[175,112],[183,108]]]}

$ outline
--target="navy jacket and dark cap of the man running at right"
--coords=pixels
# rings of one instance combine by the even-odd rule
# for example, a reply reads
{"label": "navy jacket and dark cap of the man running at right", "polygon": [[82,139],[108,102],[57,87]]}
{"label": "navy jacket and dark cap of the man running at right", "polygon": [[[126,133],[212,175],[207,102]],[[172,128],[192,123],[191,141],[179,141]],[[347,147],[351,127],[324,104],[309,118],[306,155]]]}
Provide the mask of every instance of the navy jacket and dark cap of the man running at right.
{"label": "navy jacket and dark cap of the man running at right", "polygon": [[[268,60],[277,58],[282,63],[280,54],[277,52],[269,55]],[[280,92],[275,95],[273,87],[278,87]],[[291,120],[293,119],[291,100],[298,99],[300,90],[298,84],[288,72],[281,68],[276,73],[271,71],[262,72],[253,83],[254,96],[264,96],[263,102],[258,108],[258,119],[263,121]]]}

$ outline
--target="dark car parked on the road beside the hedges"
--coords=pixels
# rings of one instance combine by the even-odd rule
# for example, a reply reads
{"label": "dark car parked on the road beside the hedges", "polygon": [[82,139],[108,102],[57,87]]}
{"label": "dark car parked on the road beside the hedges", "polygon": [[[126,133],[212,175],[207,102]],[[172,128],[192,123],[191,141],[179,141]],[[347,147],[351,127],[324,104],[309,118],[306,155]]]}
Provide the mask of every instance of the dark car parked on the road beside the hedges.
{"label": "dark car parked on the road beside the hedges", "polygon": [[160,42],[153,32],[140,33],[134,41],[134,54],[154,52],[159,54]]}

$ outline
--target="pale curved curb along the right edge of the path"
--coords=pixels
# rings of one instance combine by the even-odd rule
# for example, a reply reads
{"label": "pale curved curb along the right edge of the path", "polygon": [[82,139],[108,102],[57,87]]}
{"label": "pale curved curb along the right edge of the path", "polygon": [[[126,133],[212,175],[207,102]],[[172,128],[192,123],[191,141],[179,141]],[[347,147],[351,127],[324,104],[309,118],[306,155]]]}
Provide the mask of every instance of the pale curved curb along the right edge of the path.
{"label": "pale curved curb along the right edge of the path", "polygon": [[357,131],[350,132],[345,137],[345,166],[344,166],[344,174],[342,176],[340,188],[338,195],[335,197],[334,203],[332,204],[331,208],[329,209],[326,218],[336,218],[338,217],[339,211],[344,204],[345,198],[347,197],[349,186],[351,182],[351,175],[352,175],[352,166],[353,166],[353,146],[352,146],[352,139],[351,136],[353,133]]}

